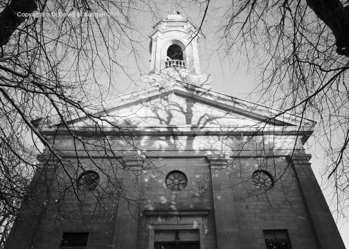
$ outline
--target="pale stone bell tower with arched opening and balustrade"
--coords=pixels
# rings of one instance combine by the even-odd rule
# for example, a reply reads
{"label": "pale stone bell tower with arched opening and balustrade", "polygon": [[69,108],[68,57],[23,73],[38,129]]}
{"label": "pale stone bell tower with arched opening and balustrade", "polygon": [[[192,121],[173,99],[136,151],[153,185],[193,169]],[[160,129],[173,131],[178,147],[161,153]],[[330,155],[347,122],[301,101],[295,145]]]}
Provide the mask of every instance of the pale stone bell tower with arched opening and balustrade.
{"label": "pale stone bell tower with arched opening and balustrade", "polygon": [[199,35],[197,26],[173,10],[166,19],[159,19],[150,33],[150,67],[152,73],[170,71],[199,74]]}

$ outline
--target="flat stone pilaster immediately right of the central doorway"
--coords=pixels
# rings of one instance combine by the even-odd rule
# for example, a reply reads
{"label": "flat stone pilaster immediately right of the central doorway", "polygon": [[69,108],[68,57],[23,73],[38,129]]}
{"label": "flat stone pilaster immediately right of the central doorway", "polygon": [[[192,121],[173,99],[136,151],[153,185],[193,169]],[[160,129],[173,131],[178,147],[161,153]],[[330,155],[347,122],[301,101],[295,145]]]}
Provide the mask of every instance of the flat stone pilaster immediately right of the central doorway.
{"label": "flat stone pilaster immediately right of the central doorway", "polygon": [[229,185],[229,157],[223,155],[207,156],[211,167],[213,207],[215,210],[215,230],[217,248],[239,247],[237,210]]}

